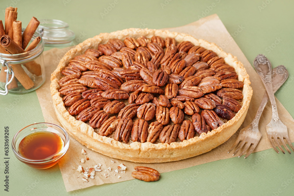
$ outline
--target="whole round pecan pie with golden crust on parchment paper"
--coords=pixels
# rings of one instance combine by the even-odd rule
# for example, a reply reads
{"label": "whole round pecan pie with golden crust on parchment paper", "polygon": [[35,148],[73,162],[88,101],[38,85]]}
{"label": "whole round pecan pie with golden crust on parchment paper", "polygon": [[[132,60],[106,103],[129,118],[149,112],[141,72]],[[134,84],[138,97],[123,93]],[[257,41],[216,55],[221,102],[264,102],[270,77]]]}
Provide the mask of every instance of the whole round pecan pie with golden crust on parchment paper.
{"label": "whole round pecan pie with golden crust on parchment paper", "polygon": [[103,155],[161,163],[206,153],[243,123],[243,64],[184,33],[125,29],[69,50],[51,75],[64,128]]}

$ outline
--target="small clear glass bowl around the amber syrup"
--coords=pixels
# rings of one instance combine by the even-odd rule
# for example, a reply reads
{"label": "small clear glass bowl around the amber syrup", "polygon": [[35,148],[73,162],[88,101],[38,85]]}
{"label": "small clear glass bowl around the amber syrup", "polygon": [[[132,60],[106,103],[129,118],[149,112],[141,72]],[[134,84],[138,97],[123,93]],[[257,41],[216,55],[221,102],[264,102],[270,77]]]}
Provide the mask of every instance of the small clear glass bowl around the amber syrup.
{"label": "small clear glass bowl around the amber syrup", "polygon": [[[57,134],[64,143],[63,148],[59,152],[40,160],[33,160],[33,159],[29,159],[22,156],[19,153],[20,142],[26,136],[35,132],[40,132],[40,131],[42,132],[49,131],[51,133]],[[69,135],[64,130],[64,128],[52,123],[35,123],[35,124],[28,125],[25,128],[19,130],[12,139],[12,150],[16,158],[18,158],[21,162],[25,163],[26,165],[29,165],[30,167],[34,167],[37,169],[46,169],[46,168],[52,167],[53,165],[58,163],[60,158],[65,155],[68,149],[69,149]]]}

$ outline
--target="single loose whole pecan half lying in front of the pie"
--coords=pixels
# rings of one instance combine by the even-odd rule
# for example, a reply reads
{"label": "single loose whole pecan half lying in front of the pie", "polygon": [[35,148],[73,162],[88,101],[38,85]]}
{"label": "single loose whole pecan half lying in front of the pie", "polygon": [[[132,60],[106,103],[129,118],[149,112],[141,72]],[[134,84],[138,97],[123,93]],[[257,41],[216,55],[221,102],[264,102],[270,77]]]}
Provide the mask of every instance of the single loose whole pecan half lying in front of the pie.
{"label": "single loose whole pecan half lying in front of the pie", "polygon": [[159,180],[159,172],[150,167],[138,166],[134,169],[136,171],[132,172],[132,176],[138,180],[143,180],[145,182],[153,182]]}

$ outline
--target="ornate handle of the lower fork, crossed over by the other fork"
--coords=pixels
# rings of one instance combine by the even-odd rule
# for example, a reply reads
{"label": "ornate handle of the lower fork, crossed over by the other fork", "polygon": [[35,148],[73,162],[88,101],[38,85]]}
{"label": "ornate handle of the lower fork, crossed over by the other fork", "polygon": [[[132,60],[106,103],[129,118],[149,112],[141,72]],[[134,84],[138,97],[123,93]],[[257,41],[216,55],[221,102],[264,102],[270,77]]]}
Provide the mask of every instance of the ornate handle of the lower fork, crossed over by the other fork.
{"label": "ornate handle of the lower fork, crossed over by the other fork", "polygon": [[[285,66],[279,65],[278,67],[272,70],[272,74],[280,76],[280,77],[272,77],[272,80],[275,80],[273,81],[273,85],[272,85],[273,93],[275,93],[278,91],[280,86],[282,86],[283,83],[287,80],[289,73]],[[255,117],[253,118],[253,121],[251,122],[251,125],[253,127],[258,126],[260,116],[265,108],[265,105],[268,103],[268,99],[269,99],[268,94],[264,93],[264,96],[260,102],[259,108],[255,114]]]}

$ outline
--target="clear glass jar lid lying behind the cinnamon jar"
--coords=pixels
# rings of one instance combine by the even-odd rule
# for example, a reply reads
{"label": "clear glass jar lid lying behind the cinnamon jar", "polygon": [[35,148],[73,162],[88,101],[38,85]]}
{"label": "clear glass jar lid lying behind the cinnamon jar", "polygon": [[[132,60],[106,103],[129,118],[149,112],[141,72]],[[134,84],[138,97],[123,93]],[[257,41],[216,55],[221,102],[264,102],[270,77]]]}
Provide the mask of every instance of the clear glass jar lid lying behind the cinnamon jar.
{"label": "clear glass jar lid lying behind the cinnamon jar", "polygon": [[69,29],[69,24],[61,20],[42,19],[38,29],[45,46],[54,47],[58,44],[70,43],[75,38],[75,33]]}

